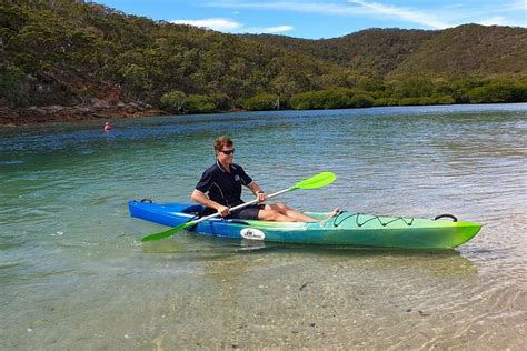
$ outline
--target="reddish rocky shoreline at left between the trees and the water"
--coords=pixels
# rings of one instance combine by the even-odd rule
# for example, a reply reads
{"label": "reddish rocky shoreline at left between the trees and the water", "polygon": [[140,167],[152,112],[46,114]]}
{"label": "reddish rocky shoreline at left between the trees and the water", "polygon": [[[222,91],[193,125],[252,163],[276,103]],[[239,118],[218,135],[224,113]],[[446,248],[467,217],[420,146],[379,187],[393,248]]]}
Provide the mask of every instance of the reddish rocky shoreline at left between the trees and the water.
{"label": "reddish rocky shoreline at left between the trees and the water", "polygon": [[89,120],[115,120],[163,116],[167,112],[137,102],[93,103],[90,106],[48,106],[24,109],[0,108],[0,127],[33,126],[41,123],[68,123]]}

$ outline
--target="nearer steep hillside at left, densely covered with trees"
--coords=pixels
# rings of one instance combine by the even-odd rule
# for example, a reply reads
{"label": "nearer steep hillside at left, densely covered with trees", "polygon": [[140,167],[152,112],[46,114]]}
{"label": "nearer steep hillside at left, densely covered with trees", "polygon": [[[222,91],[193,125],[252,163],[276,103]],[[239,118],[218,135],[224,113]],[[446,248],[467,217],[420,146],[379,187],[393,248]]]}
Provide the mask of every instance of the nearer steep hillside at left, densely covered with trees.
{"label": "nearer steep hillside at left, densely covered with trees", "polygon": [[339,70],[242,37],[73,0],[8,3],[0,23],[11,88],[3,98],[16,106],[79,103],[108,90],[149,103],[172,89],[231,99],[292,94],[325,87],[326,74]]}

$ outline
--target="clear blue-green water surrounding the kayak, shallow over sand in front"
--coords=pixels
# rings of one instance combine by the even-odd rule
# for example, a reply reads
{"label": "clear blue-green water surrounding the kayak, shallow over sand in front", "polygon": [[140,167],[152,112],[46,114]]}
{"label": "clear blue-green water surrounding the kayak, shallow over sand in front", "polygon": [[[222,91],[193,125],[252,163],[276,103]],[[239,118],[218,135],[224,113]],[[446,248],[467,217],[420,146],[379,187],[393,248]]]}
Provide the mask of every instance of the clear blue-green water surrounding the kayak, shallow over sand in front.
{"label": "clear blue-green water surrounding the kayak, shallow over sand in front", "polygon": [[[0,130],[0,349],[525,349],[527,104],[163,117]],[[228,133],[269,193],[481,232],[453,251],[255,244],[161,225]],[[247,195],[247,192],[246,192]],[[251,199],[247,195],[246,199]]]}

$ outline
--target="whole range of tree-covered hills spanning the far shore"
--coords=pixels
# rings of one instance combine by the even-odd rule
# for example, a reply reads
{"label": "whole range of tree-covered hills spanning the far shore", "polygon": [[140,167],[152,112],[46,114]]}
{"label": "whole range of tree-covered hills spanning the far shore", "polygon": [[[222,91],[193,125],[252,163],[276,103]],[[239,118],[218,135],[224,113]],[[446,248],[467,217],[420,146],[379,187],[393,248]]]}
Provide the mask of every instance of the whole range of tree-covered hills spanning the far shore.
{"label": "whole range of tree-covered hills spanning the far shore", "polygon": [[95,98],[185,112],[267,109],[278,99],[292,108],[527,99],[525,28],[305,40],[223,34],[78,0],[4,0],[0,57],[0,108],[11,109]]}

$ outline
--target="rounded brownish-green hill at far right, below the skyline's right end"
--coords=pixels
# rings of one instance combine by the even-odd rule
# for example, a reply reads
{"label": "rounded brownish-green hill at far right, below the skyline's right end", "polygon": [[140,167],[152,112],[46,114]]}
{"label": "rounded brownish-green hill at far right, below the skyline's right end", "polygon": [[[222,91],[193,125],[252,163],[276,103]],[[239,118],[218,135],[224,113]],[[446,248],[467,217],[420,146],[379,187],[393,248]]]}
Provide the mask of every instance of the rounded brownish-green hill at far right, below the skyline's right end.
{"label": "rounded brownish-green hill at far right, below the skyline's right end", "polygon": [[422,42],[389,77],[419,72],[456,79],[464,76],[526,77],[527,30],[510,27],[461,26]]}

